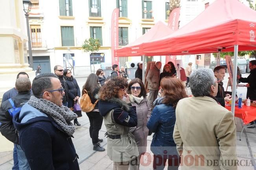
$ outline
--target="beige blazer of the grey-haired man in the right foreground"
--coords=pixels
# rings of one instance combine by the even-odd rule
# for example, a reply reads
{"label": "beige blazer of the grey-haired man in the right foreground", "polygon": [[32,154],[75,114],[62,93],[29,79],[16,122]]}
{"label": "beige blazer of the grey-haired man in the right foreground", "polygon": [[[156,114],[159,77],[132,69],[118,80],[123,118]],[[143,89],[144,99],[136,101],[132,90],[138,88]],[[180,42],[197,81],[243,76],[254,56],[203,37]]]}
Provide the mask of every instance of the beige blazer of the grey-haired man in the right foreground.
{"label": "beige blazer of the grey-haired man in the right foreground", "polygon": [[173,139],[182,152],[181,170],[237,169],[234,116],[210,97],[188,97],[178,102]]}

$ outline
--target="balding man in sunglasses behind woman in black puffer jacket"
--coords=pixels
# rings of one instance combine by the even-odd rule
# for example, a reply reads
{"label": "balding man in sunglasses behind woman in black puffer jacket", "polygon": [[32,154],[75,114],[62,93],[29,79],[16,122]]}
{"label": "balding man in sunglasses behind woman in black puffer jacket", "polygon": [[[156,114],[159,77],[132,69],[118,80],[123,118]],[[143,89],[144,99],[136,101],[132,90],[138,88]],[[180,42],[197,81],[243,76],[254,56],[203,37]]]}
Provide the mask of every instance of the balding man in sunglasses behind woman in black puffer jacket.
{"label": "balding man in sunglasses behind woman in black puffer jacket", "polygon": [[[66,84],[66,80],[64,79],[63,71],[64,69],[62,66],[60,65],[54,66],[55,75],[57,75],[59,80],[61,81],[61,85],[64,88],[64,91],[68,91],[68,85]],[[68,93],[64,94],[62,103],[64,106],[68,106]]]}

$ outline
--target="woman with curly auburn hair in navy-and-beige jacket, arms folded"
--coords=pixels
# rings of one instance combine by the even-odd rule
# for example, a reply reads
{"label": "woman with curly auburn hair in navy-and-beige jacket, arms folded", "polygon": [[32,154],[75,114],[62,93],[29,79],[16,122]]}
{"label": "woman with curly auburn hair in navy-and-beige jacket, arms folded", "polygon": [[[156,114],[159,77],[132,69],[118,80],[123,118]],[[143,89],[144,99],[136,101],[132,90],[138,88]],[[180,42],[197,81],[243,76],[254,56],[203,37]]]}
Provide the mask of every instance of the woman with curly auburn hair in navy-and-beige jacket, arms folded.
{"label": "woman with curly auburn hair in navy-and-beige jacket, arms folded", "polygon": [[[137,126],[137,115],[133,107],[123,101],[127,80],[114,77],[99,91],[99,113],[107,129],[107,154],[113,161],[113,170],[128,170],[135,164],[138,148],[129,127]],[[136,166],[136,165],[134,165]]]}

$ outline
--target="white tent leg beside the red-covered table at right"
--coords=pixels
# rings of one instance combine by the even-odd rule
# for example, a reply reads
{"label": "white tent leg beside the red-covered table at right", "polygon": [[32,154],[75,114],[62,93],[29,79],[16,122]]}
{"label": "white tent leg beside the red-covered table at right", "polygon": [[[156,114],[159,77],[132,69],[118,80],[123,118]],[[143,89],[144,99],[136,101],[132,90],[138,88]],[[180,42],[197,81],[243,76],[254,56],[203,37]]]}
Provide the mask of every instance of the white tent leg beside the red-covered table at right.
{"label": "white tent leg beside the red-covered table at right", "polygon": [[238,60],[238,45],[235,45],[234,46],[234,71],[233,71],[233,83],[232,83],[232,106],[231,106],[231,112],[234,115],[235,115],[235,103],[236,103],[236,75],[238,72],[237,60]]}

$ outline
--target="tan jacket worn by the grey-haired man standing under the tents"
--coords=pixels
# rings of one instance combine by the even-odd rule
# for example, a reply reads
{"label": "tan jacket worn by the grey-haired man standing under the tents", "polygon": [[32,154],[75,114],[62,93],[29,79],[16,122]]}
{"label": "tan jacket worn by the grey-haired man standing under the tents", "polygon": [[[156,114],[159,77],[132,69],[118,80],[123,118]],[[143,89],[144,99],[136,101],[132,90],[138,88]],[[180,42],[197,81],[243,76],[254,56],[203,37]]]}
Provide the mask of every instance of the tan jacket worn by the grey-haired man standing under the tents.
{"label": "tan jacket worn by the grey-haired man standing under the tents", "polygon": [[157,69],[156,66],[153,68],[149,69],[149,72],[147,73],[146,77],[148,86],[147,88],[149,90],[158,90],[159,88],[159,80],[160,80],[160,70]]}

